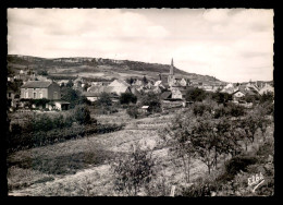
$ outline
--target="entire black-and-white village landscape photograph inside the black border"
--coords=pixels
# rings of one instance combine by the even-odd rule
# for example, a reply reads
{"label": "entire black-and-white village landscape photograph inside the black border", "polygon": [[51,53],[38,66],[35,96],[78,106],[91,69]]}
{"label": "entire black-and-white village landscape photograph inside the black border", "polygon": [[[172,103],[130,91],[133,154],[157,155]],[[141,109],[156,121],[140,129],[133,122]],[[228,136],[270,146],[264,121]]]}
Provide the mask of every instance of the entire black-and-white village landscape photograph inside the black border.
{"label": "entire black-and-white village landscape photograph inside the black border", "polygon": [[273,196],[273,9],[7,9],[9,196]]}

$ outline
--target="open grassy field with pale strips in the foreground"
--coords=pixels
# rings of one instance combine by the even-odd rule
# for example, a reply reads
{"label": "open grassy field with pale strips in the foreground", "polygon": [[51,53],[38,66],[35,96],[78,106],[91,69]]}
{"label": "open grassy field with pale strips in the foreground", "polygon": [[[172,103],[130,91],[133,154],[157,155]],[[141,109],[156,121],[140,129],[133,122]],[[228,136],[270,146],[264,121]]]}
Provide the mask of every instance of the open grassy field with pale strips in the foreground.
{"label": "open grassy field with pale strips in the foreground", "polygon": [[[182,110],[179,110],[180,112]],[[179,112],[176,111],[176,112]],[[101,123],[125,123],[121,131],[94,134],[85,138],[36,147],[11,154],[8,157],[8,183],[11,195],[67,195],[97,196],[116,195],[113,191],[111,161],[132,150],[139,142],[153,150],[158,161],[157,181],[163,183],[163,195],[172,185],[186,185],[182,161],[168,154],[169,147],[160,142],[158,131],[170,123],[176,112],[167,116],[152,114],[143,119],[131,119],[125,110],[111,116],[91,114]],[[273,128],[269,128],[272,136]],[[249,149],[253,147],[249,147]],[[175,159],[175,160],[173,160]],[[223,161],[224,159],[220,159]],[[190,180],[206,176],[207,167],[194,160]],[[177,191],[177,190],[176,190]],[[140,195],[145,193],[140,193]]]}

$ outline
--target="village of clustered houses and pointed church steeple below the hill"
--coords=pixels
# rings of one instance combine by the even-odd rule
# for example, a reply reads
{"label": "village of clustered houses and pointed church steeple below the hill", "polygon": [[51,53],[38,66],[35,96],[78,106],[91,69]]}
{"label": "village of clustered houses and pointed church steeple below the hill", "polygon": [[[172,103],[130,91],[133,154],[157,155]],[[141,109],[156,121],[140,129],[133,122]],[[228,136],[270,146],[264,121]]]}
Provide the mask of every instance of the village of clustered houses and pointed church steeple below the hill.
{"label": "village of clustered houses and pointed church steeple below the hill", "polygon": [[[17,82],[17,83],[15,83]],[[22,84],[22,85],[21,85]],[[74,91],[79,92],[90,102],[96,101],[102,93],[111,96],[112,101],[118,101],[119,96],[123,93],[131,93],[139,98],[147,93],[153,93],[160,97],[162,105],[167,107],[170,104],[179,104],[183,107],[187,106],[185,96],[188,91],[199,88],[208,93],[227,93],[232,95],[234,104],[251,107],[251,102],[245,99],[260,96],[263,93],[274,93],[274,88],[270,83],[248,82],[248,83],[211,83],[202,84],[186,77],[175,76],[173,59],[168,76],[159,74],[159,80],[156,82],[148,81],[146,75],[144,79],[127,79],[111,81],[95,81],[77,76],[75,80],[50,80],[45,75],[38,74],[36,71],[26,69],[21,70],[16,75],[8,76],[7,97],[9,99],[10,110],[23,110],[27,108],[28,99],[48,99],[48,104],[37,107],[32,105],[32,109],[40,110],[67,110],[70,101],[61,99],[61,87],[71,85]],[[19,86],[21,85],[21,86]],[[147,109],[147,105],[143,105],[140,109]]]}

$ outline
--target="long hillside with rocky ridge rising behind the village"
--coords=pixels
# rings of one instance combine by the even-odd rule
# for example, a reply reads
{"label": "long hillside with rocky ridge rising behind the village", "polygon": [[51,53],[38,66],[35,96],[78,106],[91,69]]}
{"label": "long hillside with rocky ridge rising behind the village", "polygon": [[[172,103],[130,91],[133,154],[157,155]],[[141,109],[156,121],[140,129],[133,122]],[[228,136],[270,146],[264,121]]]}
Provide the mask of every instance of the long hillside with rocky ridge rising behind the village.
{"label": "long hillside with rocky ridge rising behind the village", "polygon": [[[146,75],[157,81],[159,73],[163,77],[169,74],[170,64],[147,63],[130,60],[112,60],[102,58],[38,58],[29,56],[8,55],[9,72],[19,73],[21,69],[34,71],[46,70],[50,76],[85,76],[93,79],[140,79]],[[209,75],[187,73],[175,68],[176,76],[185,76],[198,82],[220,82]]]}

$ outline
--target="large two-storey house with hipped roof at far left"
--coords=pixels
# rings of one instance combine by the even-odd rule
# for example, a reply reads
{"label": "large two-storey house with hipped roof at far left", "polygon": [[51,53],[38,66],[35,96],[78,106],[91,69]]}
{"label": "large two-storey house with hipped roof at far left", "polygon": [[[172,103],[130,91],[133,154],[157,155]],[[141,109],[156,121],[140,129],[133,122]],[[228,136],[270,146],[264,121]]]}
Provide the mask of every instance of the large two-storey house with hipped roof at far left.
{"label": "large two-storey house with hipped roof at far left", "polygon": [[56,82],[29,81],[21,86],[22,99],[61,99],[60,86]]}

